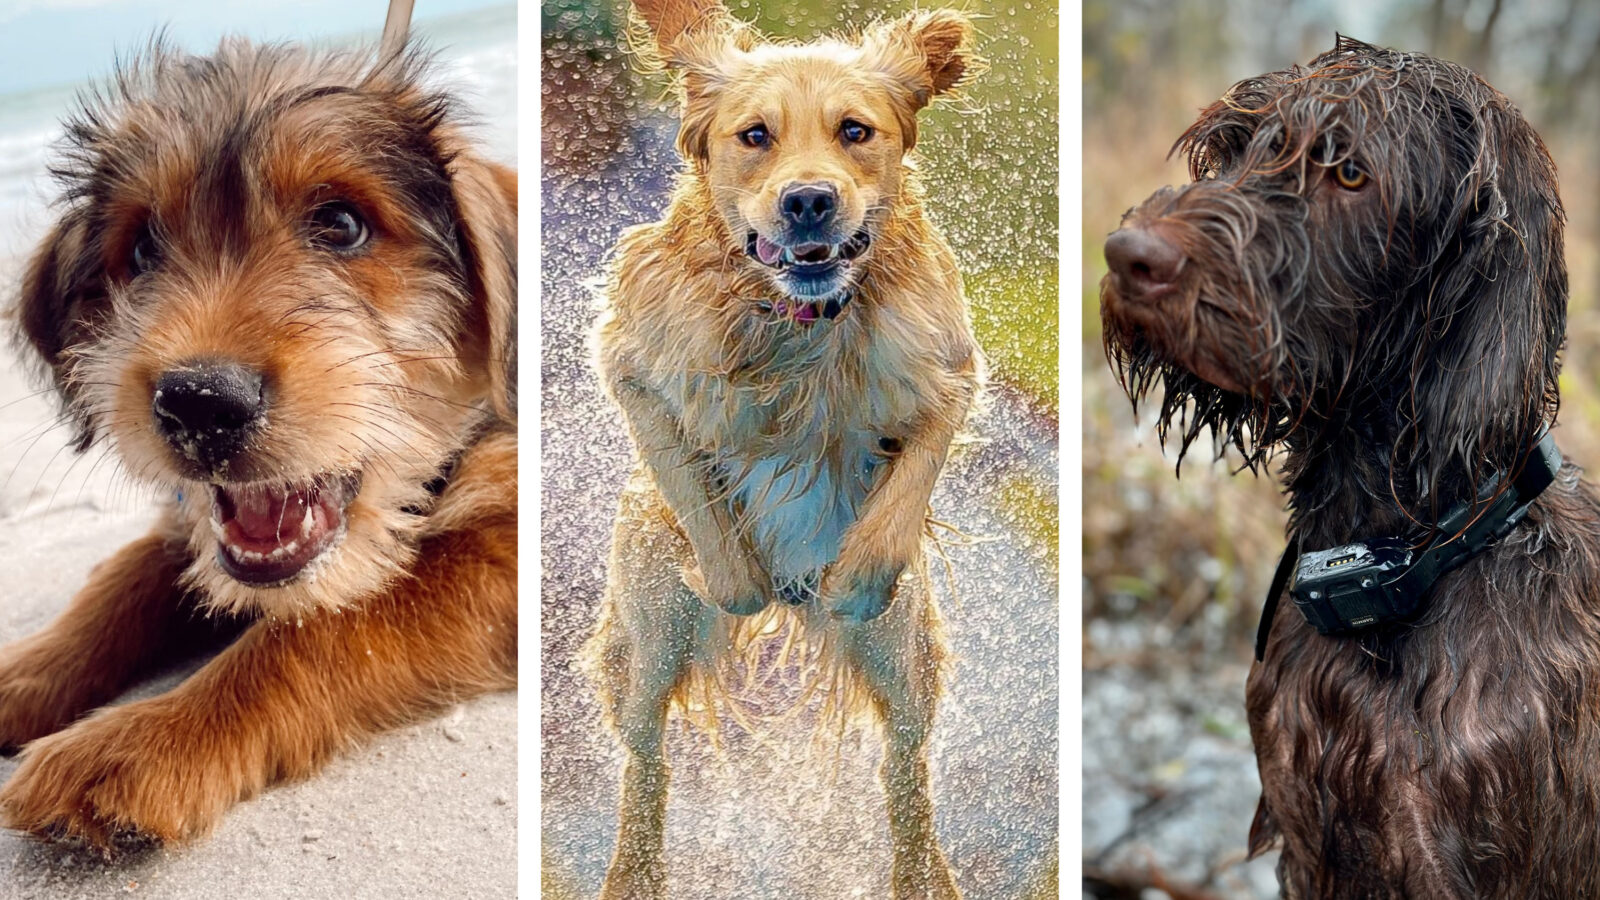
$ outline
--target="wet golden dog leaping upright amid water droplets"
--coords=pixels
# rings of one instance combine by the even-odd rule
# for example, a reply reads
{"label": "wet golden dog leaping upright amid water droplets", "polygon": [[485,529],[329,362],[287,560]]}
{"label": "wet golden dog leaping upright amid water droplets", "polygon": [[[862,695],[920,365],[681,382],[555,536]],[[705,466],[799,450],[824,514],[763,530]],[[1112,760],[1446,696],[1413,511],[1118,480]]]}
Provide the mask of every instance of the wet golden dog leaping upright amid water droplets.
{"label": "wet golden dog leaping upright amid water droplets", "polygon": [[680,75],[688,168],[618,247],[597,331],[640,455],[590,644],[627,751],[602,897],[664,894],[667,709],[784,623],[835,706],[883,724],[894,897],[957,897],[923,748],[944,653],[923,533],[982,357],[909,154],[973,29],[925,11],[792,45],[715,0],[635,6]]}

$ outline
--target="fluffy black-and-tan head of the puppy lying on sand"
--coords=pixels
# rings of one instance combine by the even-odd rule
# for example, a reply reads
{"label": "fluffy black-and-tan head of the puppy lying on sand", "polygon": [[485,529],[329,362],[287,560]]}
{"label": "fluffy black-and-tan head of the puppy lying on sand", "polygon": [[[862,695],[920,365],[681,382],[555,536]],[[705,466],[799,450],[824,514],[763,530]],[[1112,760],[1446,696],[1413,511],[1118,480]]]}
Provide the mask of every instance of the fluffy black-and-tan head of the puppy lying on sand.
{"label": "fluffy black-and-tan head of the puppy lying on sand", "polygon": [[[155,48],[69,125],[22,330],[82,444],[178,496],[182,580],[214,609],[371,596],[411,564],[472,424],[515,415],[515,176],[467,151],[421,66]],[[184,130],[154,125],[174,109]],[[352,221],[360,240],[334,243]],[[226,452],[162,408],[170,378],[216,365],[254,384]]]}

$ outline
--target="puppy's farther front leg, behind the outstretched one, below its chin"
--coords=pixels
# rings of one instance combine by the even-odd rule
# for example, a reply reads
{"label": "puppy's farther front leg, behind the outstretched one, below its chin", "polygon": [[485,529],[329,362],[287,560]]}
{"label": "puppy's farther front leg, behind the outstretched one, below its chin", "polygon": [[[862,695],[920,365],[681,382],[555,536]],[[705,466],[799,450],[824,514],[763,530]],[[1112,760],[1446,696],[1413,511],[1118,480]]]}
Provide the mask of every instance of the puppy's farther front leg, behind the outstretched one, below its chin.
{"label": "puppy's farther front leg, behind the outstretched one, below its chin", "polygon": [[181,613],[182,540],[139,538],[94,567],[66,612],[0,649],[0,748],[16,748],[115,700],[162,650],[194,636]]}

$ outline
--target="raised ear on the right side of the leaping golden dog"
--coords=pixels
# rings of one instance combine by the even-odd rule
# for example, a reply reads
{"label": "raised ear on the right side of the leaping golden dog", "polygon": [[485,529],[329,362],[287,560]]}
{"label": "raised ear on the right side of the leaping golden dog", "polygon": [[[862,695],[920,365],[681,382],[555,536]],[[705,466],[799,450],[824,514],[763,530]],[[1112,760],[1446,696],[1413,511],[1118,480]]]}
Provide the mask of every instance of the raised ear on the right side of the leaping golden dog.
{"label": "raised ear on the right side of the leaping golden dog", "polygon": [[955,10],[918,10],[862,35],[867,59],[904,91],[906,146],[917,143],[915,114],[933,98],[965,85],[981,69],[973,22]]}

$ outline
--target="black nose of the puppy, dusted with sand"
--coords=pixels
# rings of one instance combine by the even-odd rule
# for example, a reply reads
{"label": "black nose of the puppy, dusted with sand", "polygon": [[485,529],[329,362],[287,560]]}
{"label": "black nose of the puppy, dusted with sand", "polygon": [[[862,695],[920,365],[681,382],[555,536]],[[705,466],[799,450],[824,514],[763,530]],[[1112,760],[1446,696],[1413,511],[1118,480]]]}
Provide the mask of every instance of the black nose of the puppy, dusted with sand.
{"label": "black nose of the puppy, dusted with sand", "polygon": [[208,360],[163,372],[150,408],[166,442],[214,472],[266,421],[267,402],[259,372]]}

